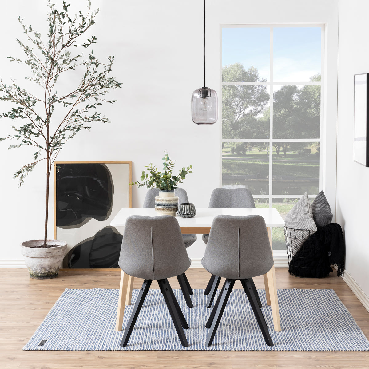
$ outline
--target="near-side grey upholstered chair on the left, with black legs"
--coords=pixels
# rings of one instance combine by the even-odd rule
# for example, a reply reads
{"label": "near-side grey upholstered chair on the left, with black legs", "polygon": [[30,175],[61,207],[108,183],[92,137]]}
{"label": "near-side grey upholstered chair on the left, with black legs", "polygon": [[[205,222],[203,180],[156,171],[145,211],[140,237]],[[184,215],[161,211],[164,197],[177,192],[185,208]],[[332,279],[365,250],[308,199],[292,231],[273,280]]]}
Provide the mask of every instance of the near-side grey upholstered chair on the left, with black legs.
{"label": "near-side grey upholstered chair on the left, with black legs", "polygon": [[[183,346],[188,342],[184,329],[188,324],[168,282],[169,277],[182,275],[190,266],[179,224],[170,215],[145,217],[132,215],[124,228],[118,265],[130,276],[143,278],[144,283],[124,331],[121,346],[130,339],[138,314],[153,280],[157,280],[178,337]],[[183,327],[183,328],[182,328]]]}

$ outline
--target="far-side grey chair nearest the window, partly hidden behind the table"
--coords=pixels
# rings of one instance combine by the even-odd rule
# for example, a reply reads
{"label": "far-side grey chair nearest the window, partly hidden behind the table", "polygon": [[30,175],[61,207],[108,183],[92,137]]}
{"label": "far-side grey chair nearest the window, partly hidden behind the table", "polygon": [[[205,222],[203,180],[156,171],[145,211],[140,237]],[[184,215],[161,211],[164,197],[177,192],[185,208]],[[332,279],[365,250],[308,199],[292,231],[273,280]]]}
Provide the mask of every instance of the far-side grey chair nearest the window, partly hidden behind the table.
{"label": "far-side grey chair nearest the window, partly hidden behind the table", "polygon": [[[210,196],[209,202],[210,208],[229,208],[229,207],[255,207],[254,198],[252,197],[252,193],[250,190],[246,188],[236,188],[236,189],[227,189],[227,188],[216,188],[213,190]],[[203,234],[203,241],[207,244],[209,238],[209,234]],[[209,283],[206,286],[204,295],[208,295],[210,293],[211,287],[213,284],[217,283],[215,280],[215,276],[212,275]],[[214,293],[218,288],[218,284],[216,284]],[[210,295],[207,301],[206,306],[210,307],[213,302],[213,296]]]}

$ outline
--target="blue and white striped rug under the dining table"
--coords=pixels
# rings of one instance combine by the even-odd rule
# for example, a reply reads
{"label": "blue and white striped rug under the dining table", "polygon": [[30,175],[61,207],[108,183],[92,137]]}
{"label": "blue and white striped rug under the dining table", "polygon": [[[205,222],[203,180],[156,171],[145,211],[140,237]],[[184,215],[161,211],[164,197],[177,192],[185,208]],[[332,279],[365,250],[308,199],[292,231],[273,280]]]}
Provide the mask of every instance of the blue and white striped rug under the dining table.
{"label": "blue and white striped rug under the dining table", "polygon": [[[155,283],[155,282],[154,282]],[[49,311],[24,350],[224,350],[224,351],[369,351],[369,342],[334,290],[278,290],[282,332],[273,329],[272,311],[265,290],[259,290],[262,311],[274,346],[265,344],[243,290],[233,290],[210,347],[204,345],[204,290],[194,290],[193,308],[182,292],[174,290],[189,324],[185,330],[189,347],[177,337],[160,290],[151,289],[142,306],[130,341],[120,347],[124,331],[115,331],[118,290],[66,289]],[[132,301],[138,294],[134,290]],[[123,327],[133,304],[126,306]],[[40,341],[46,339],[43,346]]]}

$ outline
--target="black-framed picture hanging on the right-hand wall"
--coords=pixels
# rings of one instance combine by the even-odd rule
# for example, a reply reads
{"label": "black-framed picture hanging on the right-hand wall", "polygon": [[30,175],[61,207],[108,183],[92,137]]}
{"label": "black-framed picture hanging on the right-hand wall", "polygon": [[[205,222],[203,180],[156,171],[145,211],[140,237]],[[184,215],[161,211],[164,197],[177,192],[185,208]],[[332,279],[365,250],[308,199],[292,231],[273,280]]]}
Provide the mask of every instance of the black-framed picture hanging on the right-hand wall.
{"label": "black-framed picture hanging on the right-hand wall", "polygon": [[354,85],[354,161],[369,166],[369,73],[355,74]]}

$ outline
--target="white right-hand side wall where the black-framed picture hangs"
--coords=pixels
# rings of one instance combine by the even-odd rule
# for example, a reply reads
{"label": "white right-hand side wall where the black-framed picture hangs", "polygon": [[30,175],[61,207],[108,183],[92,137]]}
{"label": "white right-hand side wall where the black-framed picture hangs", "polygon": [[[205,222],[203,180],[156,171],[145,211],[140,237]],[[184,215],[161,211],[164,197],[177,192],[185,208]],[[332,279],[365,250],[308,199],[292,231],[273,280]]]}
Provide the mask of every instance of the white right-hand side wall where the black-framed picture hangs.
{"label": "white right-hand side wall where the black-framed picture hangs", "polygon": [[354,74],[369,72],[365,0],[339,1],[337,222],[344,229],[346,271],[369,297],[369,168],[354,162]]}

